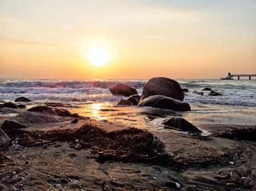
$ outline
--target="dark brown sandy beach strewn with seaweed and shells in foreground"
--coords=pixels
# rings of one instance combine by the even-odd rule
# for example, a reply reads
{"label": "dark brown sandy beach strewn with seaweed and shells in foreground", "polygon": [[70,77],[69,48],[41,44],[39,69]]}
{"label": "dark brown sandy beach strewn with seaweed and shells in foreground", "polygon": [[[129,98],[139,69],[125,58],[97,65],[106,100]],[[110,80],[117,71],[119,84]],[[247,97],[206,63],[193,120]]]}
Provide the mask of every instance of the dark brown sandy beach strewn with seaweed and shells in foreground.
{"label": "dark brown sandy beach strewn with seaweed and shells in foreground", "polygon": [[[255,126],[201,124],[198,128],[208,132],[202,136],[172,130],[148,131],[121,123],[53,114],[58,122],[49,123],[47,120],[53,119],[45,117],[44,123],[28,123],[36,121],[33,117],[38,112],[32,115],[26,109],[7,108],[1,112],[21,114],[18,118],[1,117],[2,129],[11,139],[9,147],[1,148],[1,190],[254,190],[256,187],[255,136],[253,140],[246,134],[243,140],[235,136],[219,138],[220,132],[244,128],[253,129],[255,134]],[[47,112],[40,111],[40,115],[47,116]],[[71,123],[75,118],[78,122]],[[27,128],[4,128],[5,120],[14,119]]]}

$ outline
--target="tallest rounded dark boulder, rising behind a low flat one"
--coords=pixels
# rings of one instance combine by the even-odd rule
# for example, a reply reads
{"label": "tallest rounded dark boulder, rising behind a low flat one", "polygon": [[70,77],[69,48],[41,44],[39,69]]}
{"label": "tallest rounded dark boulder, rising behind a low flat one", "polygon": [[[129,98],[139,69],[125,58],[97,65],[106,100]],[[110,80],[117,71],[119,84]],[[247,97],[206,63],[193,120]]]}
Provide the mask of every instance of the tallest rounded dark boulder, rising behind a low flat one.
{"label": "tallest rounded dark boulder, rising behind a low flat one", "polygon": [[184,92],[179,83],[167,77],[153,77],[143,88],[140,102],[150,96],[163,95],[174,99],[184,100]]}

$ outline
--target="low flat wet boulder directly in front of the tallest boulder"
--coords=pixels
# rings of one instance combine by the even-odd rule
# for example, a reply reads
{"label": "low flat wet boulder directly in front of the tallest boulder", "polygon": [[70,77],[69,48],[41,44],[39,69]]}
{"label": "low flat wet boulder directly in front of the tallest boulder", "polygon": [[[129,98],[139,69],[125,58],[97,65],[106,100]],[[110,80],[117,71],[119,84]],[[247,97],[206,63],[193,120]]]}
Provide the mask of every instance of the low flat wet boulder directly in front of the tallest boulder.
{"label": "low flat wet boulder directly in front of the tallest boulder", "polygon": [[138,106],[149,106],[173,111],[190,111],[190,105],[188,103],[162,95],[154,95],[145,98]]}

